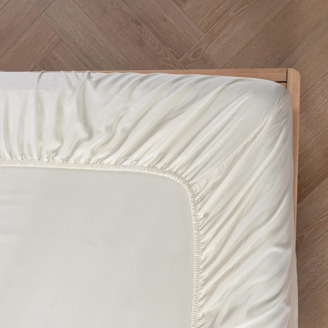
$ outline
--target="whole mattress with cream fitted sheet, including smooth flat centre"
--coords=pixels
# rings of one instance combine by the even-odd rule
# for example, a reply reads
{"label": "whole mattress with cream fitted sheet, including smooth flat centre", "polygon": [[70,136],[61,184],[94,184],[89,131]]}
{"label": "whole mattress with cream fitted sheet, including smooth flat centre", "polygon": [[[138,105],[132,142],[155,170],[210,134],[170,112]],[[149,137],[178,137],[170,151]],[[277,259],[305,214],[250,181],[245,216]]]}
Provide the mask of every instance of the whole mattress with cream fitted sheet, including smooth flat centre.
{"label": "whole mattress with cream fitted sheet, including smooth flat centre", "polygon": [[289,93],[0,73],[0,263],[0,327],[296,328]]}

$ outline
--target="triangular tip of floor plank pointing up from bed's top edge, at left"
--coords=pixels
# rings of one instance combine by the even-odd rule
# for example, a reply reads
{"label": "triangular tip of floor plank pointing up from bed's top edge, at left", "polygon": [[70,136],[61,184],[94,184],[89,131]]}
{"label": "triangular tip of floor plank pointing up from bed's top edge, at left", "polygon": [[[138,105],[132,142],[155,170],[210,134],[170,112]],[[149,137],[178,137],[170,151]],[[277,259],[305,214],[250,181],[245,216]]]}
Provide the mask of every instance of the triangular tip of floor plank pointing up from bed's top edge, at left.
{"label": "triangular tip of floor plank pointing up from bed's top edge, at left", "polygon": [[39,71],[87,71],[88,66],[61,41],[38,65]]}

